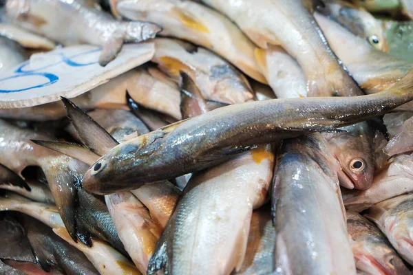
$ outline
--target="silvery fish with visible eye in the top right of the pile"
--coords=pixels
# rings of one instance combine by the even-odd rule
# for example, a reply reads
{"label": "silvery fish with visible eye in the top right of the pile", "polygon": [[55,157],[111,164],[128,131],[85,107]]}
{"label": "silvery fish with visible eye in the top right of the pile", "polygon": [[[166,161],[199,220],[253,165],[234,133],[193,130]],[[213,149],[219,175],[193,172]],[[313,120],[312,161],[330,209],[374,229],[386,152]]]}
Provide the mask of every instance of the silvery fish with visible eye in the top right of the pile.
{"label": "silvery fish with visible eye in the top right of the pile", "polygon": [[317,7],[318,12],[366,39],[377,50],[388,52],[383,25],[370,12],[341,0],[324,0],[323,3],[323,7]]}

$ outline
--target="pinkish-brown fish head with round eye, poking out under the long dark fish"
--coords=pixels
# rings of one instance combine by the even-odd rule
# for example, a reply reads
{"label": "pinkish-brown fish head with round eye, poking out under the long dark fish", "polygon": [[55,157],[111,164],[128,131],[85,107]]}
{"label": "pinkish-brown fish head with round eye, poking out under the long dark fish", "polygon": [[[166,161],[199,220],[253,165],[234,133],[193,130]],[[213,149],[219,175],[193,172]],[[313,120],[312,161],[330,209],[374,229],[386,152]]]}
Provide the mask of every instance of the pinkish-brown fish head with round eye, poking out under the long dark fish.
{"label": "pinkish-brown fish head with round eye, poking out under the long dark fish", "polygon": [[374,175],[373,133],[367,122],[341,128],[344,133],[324,133],[332,155],[341,164],[341,185],[346,188],[367,189]]}

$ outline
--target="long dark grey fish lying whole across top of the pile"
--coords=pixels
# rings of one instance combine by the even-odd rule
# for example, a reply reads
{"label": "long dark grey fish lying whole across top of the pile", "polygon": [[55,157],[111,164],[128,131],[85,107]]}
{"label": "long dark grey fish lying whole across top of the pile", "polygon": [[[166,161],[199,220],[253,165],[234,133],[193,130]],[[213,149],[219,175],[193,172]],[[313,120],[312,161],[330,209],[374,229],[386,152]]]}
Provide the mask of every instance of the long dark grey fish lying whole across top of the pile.
{"label": "long dark grey fish lying whole across top of the pile", "polygon": [[257,144],[332,131],[412,100],[411,86],[407,74],[398,85],[369,96],[275,99],[215,109],[112,148],[89,168],[83,187],[100,194],[131,190],[222,163]]}

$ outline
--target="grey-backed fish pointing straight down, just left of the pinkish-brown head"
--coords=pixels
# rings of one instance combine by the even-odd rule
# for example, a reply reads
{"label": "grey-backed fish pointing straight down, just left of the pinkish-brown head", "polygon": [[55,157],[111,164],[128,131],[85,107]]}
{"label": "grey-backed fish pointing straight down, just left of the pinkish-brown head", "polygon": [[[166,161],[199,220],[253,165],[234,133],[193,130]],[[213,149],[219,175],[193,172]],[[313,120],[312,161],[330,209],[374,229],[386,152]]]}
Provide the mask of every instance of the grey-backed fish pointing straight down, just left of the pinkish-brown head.
{"label": "grey-backed fish pointing straight down, just left of the pinkish-brown head", "polygon": [[321,135],[283,141],[272,196],[275,274],[356,273],[338,170]]}

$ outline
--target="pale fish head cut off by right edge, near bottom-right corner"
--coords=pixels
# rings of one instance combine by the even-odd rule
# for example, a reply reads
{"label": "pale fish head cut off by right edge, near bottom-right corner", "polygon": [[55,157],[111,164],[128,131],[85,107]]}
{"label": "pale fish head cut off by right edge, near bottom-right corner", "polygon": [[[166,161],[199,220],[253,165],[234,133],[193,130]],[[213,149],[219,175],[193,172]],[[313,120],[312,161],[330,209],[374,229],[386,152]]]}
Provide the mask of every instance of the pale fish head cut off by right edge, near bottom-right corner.
{"label": "pale fish head cut off by right edge, near bottom-right corner", "polygon": [[381,201],[365,217],[376,223],[400,256],[413,264],[413,194]]}

